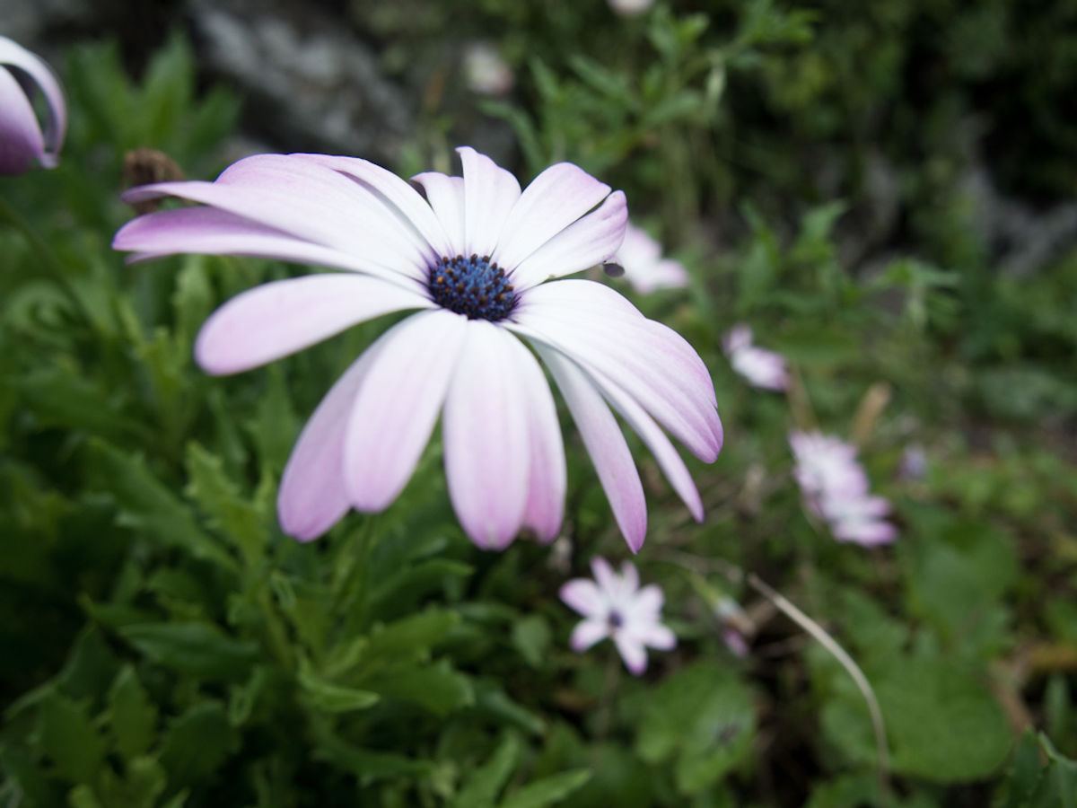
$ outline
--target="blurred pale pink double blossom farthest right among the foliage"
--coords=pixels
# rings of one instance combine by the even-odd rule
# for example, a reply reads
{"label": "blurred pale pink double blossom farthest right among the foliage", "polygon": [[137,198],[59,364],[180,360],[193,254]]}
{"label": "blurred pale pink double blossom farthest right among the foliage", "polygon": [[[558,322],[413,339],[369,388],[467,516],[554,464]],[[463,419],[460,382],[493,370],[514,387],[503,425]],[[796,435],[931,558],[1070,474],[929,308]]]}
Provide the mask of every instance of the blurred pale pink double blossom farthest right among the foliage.
{"label": "blurred pale pink double blossom farthest right among the foliage", "polygon": [[826,520],[835,539],[865,546],[894,541],[897,529],[884,518],[890,502],[869,493],[856,447],[819,432],[794,432],[789,445],[805,502]]}

